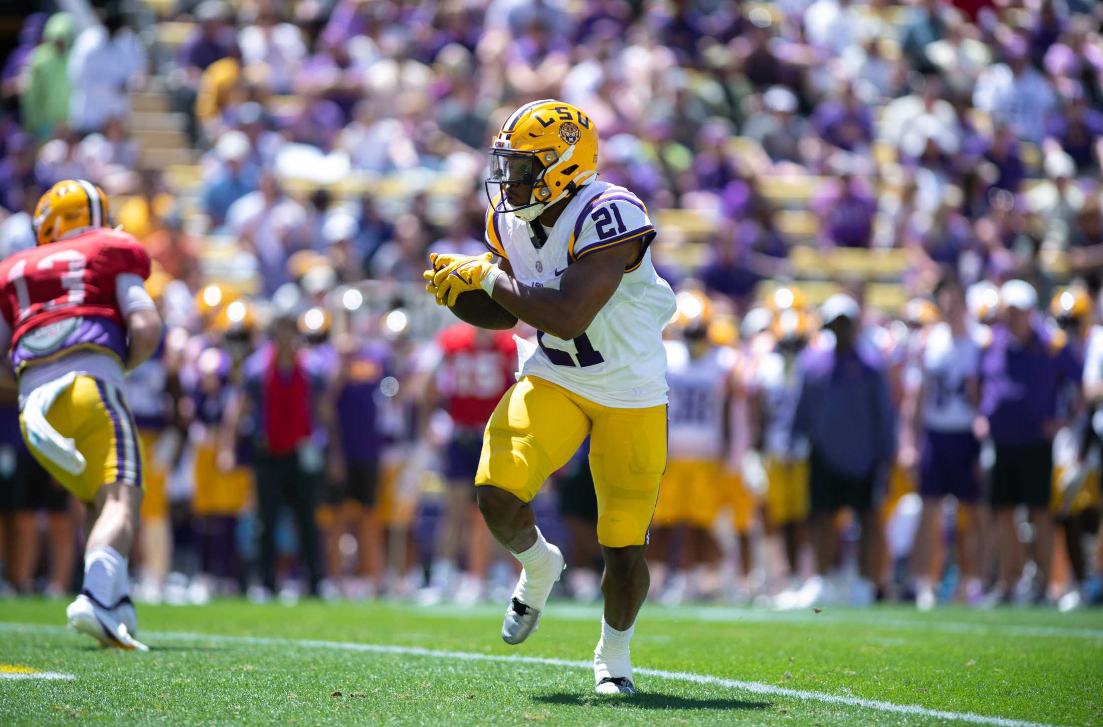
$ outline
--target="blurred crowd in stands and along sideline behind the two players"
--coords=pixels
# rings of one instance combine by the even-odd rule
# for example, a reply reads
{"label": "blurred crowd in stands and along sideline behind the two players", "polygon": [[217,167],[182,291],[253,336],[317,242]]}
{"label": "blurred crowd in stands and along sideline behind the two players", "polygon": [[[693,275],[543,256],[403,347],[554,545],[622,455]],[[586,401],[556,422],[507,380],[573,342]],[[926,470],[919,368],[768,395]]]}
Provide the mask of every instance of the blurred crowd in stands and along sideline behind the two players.
{"label": "blurred crowd in stands and along sideline behind the two players", "polygon": [[[1099,599],[1099,3],[127,9],[30,14],[3,61],[0,255],[33,245],[42,190],[85,178],[157,263],[171,330],[128,392],[150,462],[144,597],[507,591],[470,480],[515,354],[452,328],[420,280],[430,250],[484,249],[488,140],[555,97],[597,125],[601,178],[647,204],[656,267],[693,293],[672,350],[733,352],[722,487],[741,494],[656,522],[661,596]],[[930,351],[959,339],[974,365],[942,391]],[[291,386],[266,373],[281,357],[301,367]],[[844,357],[861,375],[834,391]],[[846,404],[867,389],[877,406]],[[961,458],[941,477],[924,397],[947,396],[976,451],[934,446]],[[3,577],[56,592],[74,505],[7,402]],[[585,462],[536,506],[588,600]],[[963,468],[974,483],[921,485]]]}

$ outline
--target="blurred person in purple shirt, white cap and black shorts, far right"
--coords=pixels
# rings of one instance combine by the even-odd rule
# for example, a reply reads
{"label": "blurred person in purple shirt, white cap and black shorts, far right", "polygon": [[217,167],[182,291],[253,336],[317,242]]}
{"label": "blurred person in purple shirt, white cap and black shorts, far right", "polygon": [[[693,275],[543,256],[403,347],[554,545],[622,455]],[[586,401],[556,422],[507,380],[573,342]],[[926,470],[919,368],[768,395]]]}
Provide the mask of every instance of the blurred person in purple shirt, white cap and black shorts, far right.
{"label": "blurred person in purple shirt, white cap and black shorts, far right", "polygon": [[992,343],[981,359],[981,414],[996,450],[988,501],[996,516],[1000,558],[992,600],[1009,598],[1018,578],[1014,515],[1016,506],[1027,505],[1038,565],[1038,586],[1031,596],[1040,601],[1052,565],[1049,504],[1053,436],[1062,426],[1058,399],[1065,383],[1080,379],[1082,365],[1036,320],[1038,293],[1034,286],[1008,280],[999,289],[999,299],[1003,320],[994,328]]}

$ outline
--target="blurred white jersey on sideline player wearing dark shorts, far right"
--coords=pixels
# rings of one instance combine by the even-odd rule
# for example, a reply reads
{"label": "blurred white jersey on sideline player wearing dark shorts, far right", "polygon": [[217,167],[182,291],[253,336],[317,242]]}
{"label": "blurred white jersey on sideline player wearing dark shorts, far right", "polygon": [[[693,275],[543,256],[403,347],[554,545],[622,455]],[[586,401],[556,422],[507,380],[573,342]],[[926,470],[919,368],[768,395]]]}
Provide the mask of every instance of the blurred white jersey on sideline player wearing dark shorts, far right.
{"label": "blurred white jersey on sideline player wearing dark shorts, far right", "polygon": [[923,426],[933,431],[968,431],[976,408],[965,384],[981,371],[981,346],[972,335],[954,338],[949,323],[935,323],[923,346]]}

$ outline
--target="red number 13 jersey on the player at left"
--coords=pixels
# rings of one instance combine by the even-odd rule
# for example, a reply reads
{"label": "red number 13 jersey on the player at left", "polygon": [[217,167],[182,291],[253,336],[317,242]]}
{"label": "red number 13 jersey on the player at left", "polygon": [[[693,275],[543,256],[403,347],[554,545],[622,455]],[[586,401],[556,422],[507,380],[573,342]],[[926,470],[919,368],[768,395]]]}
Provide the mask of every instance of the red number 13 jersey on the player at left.
{"label": "red number 13 jersey on the player at left", "polygon": [[[118,351],[122,316],[115,295],[115,279],[132,272],[149,277],[149,254],[132,235],[97,228],[49,245],[23,250],[0,261],[0,313],[12,330],[17,366],[54,356],[76,345]],[[74,320],[78,324],[65,324]],[[93,322],[95,325],[87,325]],[[20,342],[31,331],[46,327],[56,335]],[[73,330],[69,330],[69,329]],[[40,343],[50,341],[49,351]],[[126,342],[121,341],[125,355]]]}

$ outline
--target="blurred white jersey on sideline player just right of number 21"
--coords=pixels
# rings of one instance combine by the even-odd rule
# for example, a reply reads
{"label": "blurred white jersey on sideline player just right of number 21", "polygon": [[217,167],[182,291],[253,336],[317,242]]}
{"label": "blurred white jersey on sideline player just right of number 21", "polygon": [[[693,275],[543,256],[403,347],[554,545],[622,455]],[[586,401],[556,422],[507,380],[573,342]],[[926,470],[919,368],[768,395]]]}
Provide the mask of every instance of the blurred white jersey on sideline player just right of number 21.
{"label": "blurred white jersey on sideline player just right of number 21", "polygon": [[666,341],[671,459],[724,457],[724,405],[736,355],[730,348],[714,346],[694,359],[682,341]]}

